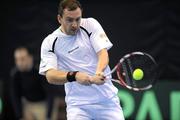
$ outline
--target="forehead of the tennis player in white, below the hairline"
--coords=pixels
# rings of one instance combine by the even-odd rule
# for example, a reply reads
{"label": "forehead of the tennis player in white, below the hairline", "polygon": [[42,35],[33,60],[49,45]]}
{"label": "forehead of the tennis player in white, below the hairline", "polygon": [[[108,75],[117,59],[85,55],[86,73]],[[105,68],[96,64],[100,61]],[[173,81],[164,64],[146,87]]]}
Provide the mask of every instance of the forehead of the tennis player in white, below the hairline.
{"label": "forehead of the tennis player in white, below the hairline", "polygon": [[77,17],[81,17],[82,15],[82,11],[80,8],[77,8],[73,11],[69,11],[67,8],[64,9],[64,17],[71,17],[71,18],[77,18]]}

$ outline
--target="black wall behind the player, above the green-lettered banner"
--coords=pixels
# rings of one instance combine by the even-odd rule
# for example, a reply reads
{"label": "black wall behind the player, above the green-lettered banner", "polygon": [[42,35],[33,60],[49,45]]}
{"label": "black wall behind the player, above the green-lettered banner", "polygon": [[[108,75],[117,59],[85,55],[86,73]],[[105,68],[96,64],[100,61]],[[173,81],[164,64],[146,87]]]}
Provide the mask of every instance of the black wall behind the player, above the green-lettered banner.
{"label": "black wall behind the player, above the green-lettered banner", "polygon": [[[160,0],[80,0],[84,17],[96,18],[114,44],[109,51],[110,66],[133,51],[155,57],[160,67],[159,80],[180,79],[180,4]],[[59,26],[56,15],[58,0],[1,2],[0,80],[3,81],[6,115],[8,77],[14,65],[13,50],[21,45],[32,48],[39,63],[42,40]]]}

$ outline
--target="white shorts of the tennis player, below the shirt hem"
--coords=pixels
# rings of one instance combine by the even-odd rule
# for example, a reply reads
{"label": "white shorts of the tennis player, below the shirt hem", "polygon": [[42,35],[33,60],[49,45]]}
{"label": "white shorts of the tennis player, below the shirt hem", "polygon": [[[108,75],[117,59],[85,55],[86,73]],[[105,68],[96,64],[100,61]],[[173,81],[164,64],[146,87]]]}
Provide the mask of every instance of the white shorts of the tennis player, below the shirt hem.
{"label": "white shorts of the tennis player, below the shirt hem", "polygon": [[96,104],[67,105],[67,120],[124,120],[117,96]]}

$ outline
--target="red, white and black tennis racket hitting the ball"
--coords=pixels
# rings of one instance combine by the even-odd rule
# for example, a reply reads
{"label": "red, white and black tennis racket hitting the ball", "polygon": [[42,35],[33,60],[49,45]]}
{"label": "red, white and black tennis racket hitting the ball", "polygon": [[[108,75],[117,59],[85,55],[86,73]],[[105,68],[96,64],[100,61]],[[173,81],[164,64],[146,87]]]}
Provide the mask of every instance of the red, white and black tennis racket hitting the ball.
{"label": "red, white and black tennis racket hitting the ball", "polygon": [[[136,69],[140,69],[143,72],[143,77],[140,80],[133,77]],[[132,52],[122,57],[112,71],[105,74],[105,76],[112,73],[116,73],[117,79],[111,80],[121,86],[134,91],[148,90],[157,79],[157,63],[147,53]]]}

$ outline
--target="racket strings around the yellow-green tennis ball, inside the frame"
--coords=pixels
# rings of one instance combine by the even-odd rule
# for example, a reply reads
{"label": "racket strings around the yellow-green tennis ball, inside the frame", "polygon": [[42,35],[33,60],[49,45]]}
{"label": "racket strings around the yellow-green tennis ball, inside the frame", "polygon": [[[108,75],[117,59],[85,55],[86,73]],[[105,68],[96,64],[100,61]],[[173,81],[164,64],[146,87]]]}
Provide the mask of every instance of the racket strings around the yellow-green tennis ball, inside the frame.
{"label": "racket strings around the yellow-green tennis ball, inside the frame", "polygon": [[[124,61],[121,63],[121,71],[126,73],[125,84],[132,86],[134,88],[143,88],[149,86],[153,83],[155,77],[155,63],[153,60],[146,55],[130,55],[127,58],[124,58]],[[137,68],[143,70],[144,77],[142,80],[133,79],[133,71]]]}

